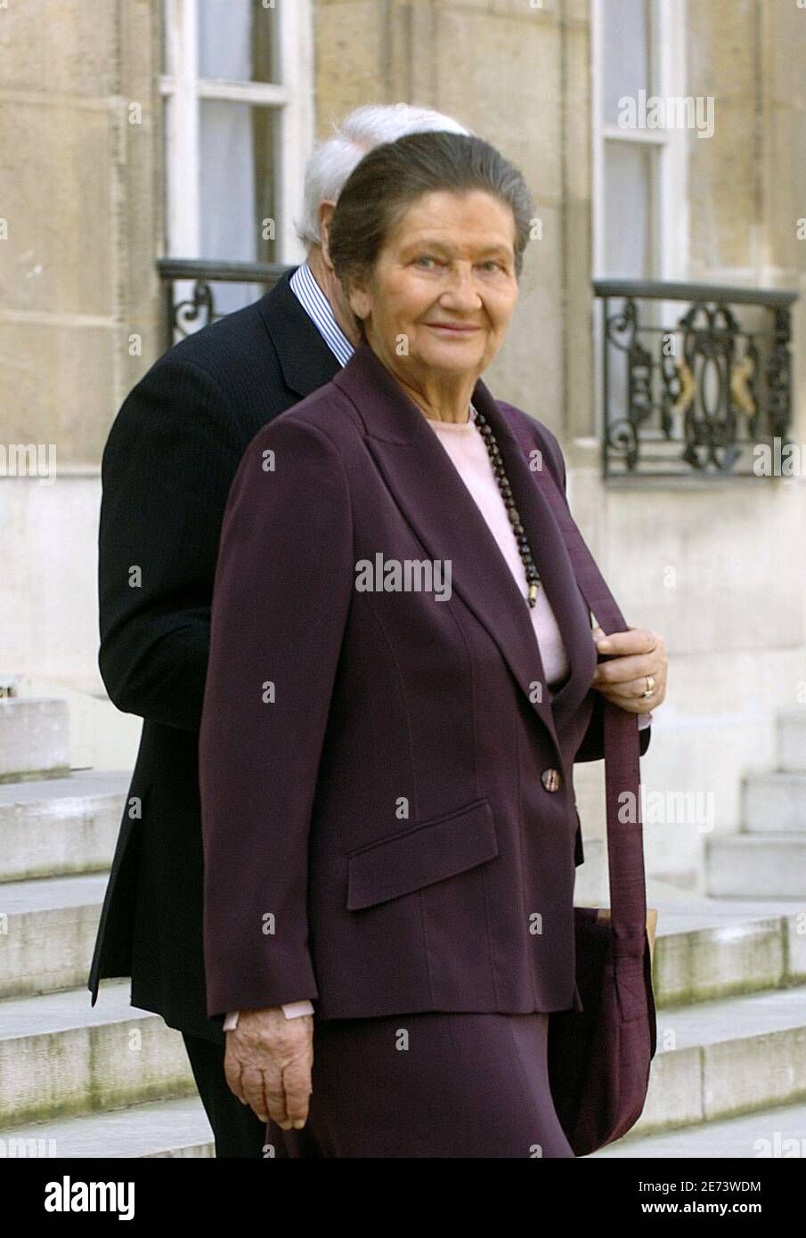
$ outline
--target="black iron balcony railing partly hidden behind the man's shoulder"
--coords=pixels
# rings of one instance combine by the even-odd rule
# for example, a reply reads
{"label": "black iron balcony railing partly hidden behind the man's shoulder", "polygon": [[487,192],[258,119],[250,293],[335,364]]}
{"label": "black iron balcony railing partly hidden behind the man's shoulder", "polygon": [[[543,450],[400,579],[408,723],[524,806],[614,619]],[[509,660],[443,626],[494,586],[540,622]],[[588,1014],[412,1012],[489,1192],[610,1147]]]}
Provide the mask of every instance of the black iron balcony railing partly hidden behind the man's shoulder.
{"label": "black iron balcony railing partly hidden behind the man's shoulder", "polygon": [[[171,348],[191,332],[238,308],[227,292],[239,287],[244,293],[240,303],[248,305],[271,288],[287,266],[161,258],[157,270],[165,290],[165,347]],[[214,285],[220,285],[215,292]]]}

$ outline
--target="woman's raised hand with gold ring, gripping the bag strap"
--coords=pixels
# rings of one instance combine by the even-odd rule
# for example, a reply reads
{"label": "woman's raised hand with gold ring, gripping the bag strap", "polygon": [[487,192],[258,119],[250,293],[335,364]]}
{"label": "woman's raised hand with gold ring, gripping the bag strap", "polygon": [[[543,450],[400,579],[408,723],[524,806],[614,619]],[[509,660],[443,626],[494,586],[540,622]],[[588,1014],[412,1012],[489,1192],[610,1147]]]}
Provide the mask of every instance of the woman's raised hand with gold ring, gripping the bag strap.
{"label": "woman's raised hand with gold ring, gripping the bag strap", "polygon": [[[650,713],[655,709],[666,696],[664,638],[646,628],[628,628],[626,631],[614,631],[605,636],[596,626],[593,639],[597,651],[607,654],[608,659],[597,664],[591,687],[628,713]],[[648,675],[655,682],[652,695],[645,697]]]}

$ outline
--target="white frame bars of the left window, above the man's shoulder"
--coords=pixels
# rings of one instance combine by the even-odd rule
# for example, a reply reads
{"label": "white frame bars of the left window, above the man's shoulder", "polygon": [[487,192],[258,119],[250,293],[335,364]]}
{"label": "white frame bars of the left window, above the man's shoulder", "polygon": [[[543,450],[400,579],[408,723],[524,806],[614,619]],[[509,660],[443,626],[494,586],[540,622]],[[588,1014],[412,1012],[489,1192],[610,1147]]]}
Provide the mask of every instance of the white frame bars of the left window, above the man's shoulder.
{"label": "white frame bars of the left window, above the man's shoulder", "polygon": [[[277,261],[302,261],[293,230],[302,214],[305,161],[313,145],[313,38],[311,0],[279,2],[279,83],[228,82],[198,72],[198,0],[163,0],[168,72],[160,76],[166,106],[166,244],[171,258],[199,259],[199,100],[227,99],[280,111],[275,175]],[[274,7],[266,5],[266,7]]]}

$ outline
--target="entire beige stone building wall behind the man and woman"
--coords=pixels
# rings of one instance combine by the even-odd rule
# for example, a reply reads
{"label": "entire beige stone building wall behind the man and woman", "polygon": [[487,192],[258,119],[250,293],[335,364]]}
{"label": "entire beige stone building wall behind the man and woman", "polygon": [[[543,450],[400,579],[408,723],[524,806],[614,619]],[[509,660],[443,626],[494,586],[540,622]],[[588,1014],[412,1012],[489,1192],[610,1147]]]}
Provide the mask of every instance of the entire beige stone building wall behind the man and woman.
{"label": "entire beige stone building wall behind the man and woman", "polygon": [[[680,0],[688,90],[691,279],[804,292],[806,11],[791,0]],[[591,295],[587,0],[314,0],[317,132],[366,102],[432,105],[526,173],[542,223],[492,389],[560,437],[572,506],[628,623],[666,639],[671,676],[648,786],[713,790],[738,823],[740,776],[773,759],[775,711],[806,686],[802,480],[604,488]],[[95,665],[100,452],[161,350],[155,261],[163,171],[157,0],[0,7],[0,442],[57,444],[58,480],[0,478],[0,670],[103,695]],[[131,104],[141,123],[130,124]],[[683,264],[686,265],[686,264]],[[796,307],[795,438],[806,442],[806,296]],[[141,352],[137,355],[136,339]],[[126,730],[120,760],[132,755]],[[579,769],[587,849],[600,770]],[[651,826],[650,868],[701,874],[697,825]],[[588,865],[586,865],[588,868]],[[589,872],[593,870],[593,864]],[[600,877],[600,870],[599,870]]]}

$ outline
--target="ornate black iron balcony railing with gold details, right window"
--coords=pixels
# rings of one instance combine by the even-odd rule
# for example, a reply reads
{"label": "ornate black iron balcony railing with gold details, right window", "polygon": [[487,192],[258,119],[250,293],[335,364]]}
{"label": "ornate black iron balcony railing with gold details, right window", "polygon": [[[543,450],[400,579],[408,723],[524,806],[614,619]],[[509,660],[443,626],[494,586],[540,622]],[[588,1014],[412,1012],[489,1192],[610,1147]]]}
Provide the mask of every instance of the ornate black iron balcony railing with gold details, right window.
{"label": "ornate black iron balcony railing with gold details, right window", "polygon": [[797,293],[640,280],[593,288],[603,475],[758,475],[756,444],[789,441]]}

